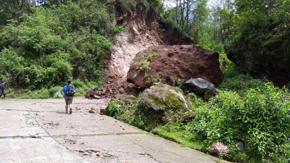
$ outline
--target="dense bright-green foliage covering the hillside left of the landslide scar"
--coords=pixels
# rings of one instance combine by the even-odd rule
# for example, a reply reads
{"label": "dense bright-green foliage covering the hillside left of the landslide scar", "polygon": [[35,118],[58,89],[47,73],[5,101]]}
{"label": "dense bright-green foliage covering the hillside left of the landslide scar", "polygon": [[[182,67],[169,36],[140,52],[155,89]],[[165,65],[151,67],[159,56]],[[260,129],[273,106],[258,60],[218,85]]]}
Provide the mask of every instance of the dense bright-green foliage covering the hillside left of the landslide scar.
{"label": "dense bright-green foliage covering the hillside left of the landslide scar", "polygon": [[0,30],[0,74],[10,87],[62,86],[68,78],[100,84],[113,37],[124,29],[114,14],[72,1],[30,10]]}

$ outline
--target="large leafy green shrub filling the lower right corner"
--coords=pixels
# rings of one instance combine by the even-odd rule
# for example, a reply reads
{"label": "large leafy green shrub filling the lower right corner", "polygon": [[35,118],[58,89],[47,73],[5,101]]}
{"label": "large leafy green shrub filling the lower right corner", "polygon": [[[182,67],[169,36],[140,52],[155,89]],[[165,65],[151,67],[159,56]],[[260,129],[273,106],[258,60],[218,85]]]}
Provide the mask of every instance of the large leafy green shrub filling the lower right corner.
{"label": "large leafy green shrub filling the lower right corner", "polygon": [[237,141],[248,142],[247,155],[256,160],[290,160],[290,102],[288,90],[271,83],[249,89],[244,98],[224,91],[210,107],[199,107],[192,127],[205,138],[204,148],[215,140],[229,146],[228,157],[237,155]]}

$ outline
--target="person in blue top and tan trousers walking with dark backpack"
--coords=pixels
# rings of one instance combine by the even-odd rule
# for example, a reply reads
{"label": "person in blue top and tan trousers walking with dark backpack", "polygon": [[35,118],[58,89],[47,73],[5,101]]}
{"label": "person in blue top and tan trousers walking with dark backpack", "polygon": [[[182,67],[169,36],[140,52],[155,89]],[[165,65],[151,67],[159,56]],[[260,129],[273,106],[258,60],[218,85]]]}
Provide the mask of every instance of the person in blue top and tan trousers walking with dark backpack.
{"label": "person in blue top and tan trousers walking with dark backpack", "polygon": [[68,113],[68,105],[70,106],[70,114],[73,112],[73,95],[75,94],[75,86],[71,85],[72,81],[68,80],[63,87],[64,100],[66,101],[66,113]]}

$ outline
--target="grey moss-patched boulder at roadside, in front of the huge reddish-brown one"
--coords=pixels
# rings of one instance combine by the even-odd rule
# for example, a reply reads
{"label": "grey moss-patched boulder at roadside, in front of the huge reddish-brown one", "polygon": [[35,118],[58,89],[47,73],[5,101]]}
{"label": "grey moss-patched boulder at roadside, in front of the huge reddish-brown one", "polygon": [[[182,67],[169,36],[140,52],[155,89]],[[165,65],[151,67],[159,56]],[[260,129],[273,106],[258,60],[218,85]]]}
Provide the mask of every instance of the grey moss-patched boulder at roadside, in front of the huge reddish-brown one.
{"label": "grey moss-patched boulder at roadside, in front of the huge reddish-brown one", "polygon": [[171,109],[187,109],[187,104],[182,92],[170,85],[155,83],[150,89],[145,89],[141,94],[142,107],[154,111]]}

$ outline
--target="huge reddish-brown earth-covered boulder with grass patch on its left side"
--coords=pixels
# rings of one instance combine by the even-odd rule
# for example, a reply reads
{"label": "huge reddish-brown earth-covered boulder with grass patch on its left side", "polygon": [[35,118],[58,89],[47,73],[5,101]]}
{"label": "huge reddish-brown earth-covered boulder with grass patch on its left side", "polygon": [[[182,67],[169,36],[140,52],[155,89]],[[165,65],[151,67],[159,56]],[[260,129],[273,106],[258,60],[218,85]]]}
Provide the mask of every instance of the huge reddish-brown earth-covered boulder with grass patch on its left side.
{"label": "huge reddish-brown earth-covered boulder with grass patch on its left side", "polygon": [[127,81],[150,88],[155,82],[175,85],[190,78],[203,78],[219,85],[222,71],[219,54],[193,45],[156,45],[140,51],[130,65]]}

